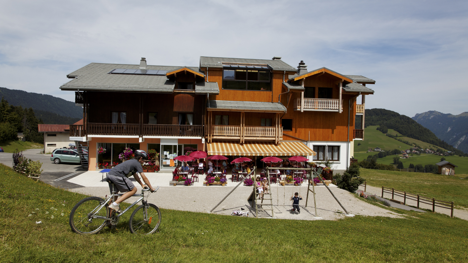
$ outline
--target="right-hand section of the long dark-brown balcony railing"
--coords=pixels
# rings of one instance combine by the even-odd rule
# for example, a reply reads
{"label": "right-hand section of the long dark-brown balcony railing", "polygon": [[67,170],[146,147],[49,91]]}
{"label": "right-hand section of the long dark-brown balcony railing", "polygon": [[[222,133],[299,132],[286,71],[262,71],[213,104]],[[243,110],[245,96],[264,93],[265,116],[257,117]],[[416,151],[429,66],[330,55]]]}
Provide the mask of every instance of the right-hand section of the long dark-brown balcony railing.
{"label": "right-hand section of the long dark-brown balcony railing", "polygon": [[143,124],[144,136],[202,136],[202,125]]}

